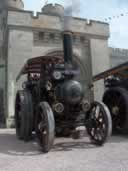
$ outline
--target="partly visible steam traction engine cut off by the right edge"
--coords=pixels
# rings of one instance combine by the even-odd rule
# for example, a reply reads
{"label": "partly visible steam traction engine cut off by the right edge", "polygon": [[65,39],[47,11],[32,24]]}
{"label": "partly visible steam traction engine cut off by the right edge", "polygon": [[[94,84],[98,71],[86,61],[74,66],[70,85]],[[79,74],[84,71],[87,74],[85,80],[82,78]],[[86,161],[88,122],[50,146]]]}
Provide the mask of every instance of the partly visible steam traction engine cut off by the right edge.
{"label": "partly visible steam traction engine cut off by the right edge", "polygon": [[93,77],[100,79],[105,82],[103,102],[111,113],[113,133],[128,133],[128,62]]}

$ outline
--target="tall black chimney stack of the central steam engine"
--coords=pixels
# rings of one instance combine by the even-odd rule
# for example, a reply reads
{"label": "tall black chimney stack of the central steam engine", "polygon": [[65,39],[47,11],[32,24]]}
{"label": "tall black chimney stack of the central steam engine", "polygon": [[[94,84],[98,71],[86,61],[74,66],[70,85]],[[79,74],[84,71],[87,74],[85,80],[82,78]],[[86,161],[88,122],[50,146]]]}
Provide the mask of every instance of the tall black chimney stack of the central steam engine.
{"label": "tall black chimney stack of the central steam engine", "polygon": [[63,32],[63,46],[64,46],[64,62],[72,65],[73,48],[72,48],[72,32]]}

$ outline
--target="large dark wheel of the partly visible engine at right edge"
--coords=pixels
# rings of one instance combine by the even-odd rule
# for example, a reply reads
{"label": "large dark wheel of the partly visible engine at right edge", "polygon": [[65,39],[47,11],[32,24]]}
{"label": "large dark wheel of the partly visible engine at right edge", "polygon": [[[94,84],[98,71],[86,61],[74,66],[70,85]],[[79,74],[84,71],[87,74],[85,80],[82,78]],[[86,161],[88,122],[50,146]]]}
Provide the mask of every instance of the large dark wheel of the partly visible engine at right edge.
{"label": "large dark wheel of the partly visible engine at right edge", "polygon": [[128,91],[111,88],[104,93],[103,102],[110,110],[113,132],[128,132]]}

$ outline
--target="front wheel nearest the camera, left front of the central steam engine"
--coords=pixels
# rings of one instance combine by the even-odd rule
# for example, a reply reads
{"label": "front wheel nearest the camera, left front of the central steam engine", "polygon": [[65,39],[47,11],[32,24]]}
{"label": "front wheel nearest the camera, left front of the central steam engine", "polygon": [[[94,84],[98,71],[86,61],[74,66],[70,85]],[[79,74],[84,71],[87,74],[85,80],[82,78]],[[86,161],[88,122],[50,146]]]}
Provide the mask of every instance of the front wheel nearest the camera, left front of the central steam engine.
{"label": "front wheel nearest the camera, left front of the central steam engine", "polygon": [[47,102],[41,102],[37,109],[36,133],[42,151],[47,153],[53,146],[55,134],[54,115]]}

